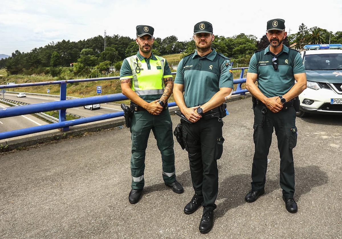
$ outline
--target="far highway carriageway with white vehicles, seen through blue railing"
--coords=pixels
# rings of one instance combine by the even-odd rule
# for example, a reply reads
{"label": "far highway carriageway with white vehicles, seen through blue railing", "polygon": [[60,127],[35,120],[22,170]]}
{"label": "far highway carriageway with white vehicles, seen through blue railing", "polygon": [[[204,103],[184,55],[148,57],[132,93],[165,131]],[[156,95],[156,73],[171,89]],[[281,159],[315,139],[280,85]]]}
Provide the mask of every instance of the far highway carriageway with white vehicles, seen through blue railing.
{"label": "far highway carriageway with white vehicles, seen through blue railing", "polygon": [[[2,99],[1,95],[1,99]],[[52,102],[59,101],[58,98],[55,97],[47,97],[47,96],[36,96],[36,95],[26,95],[26,97],[16,97],[16,94],[5,93],[5,99],[17,100],[25,103],[36,104],[36,103],[44,103],[44,102]],[[113,112],[122,111],[120,106],[112,105],[112,104],[101,104],[101,108],[97,110],[89,110],[84,109],[83,107],[75,107],[67,109],[66,112],[70,114],[77,114],[83,117],[89,117],[100,114],[108,114]]]}

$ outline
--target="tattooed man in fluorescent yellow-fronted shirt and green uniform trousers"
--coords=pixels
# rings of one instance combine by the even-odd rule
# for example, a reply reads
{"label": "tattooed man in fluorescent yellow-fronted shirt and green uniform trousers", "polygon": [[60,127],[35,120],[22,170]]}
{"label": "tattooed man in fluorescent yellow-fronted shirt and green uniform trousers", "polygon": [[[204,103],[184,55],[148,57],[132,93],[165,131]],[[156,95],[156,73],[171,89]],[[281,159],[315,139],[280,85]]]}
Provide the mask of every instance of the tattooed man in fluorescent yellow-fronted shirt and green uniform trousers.
{"label": "tattooed man in fluorescent yellow-fronted shirt and green uniform trousers", "polygon": [[120,69],[122,94],[131,100],[131,175],[132,190],[128,200],[137,203],[144,187],[145,150],[152,129],[161,153],[162,177],[165,185],[175,193],[183,193],[176,181],[173,153],[172,122],[167,101],[172,93],[173,78],[165,58],[151,50],[154,28],[136,26],[139,52],[123,60]]}

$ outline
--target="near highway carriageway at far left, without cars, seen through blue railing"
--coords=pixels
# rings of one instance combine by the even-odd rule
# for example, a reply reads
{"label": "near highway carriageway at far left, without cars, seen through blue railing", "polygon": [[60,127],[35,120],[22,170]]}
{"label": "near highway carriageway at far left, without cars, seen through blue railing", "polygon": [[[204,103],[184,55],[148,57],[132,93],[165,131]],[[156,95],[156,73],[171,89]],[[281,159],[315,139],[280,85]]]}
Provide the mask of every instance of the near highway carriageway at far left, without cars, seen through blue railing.
{"label": "near highway carriageway at far left, without cars, seen through blue railing", "polygon": [[[5,104],[0,103],[0,109],[8,107]],[[8,118],[0,118],[0,132],[11,131],[15,129],[23,129],[28,127],[34,127],[39,125],[46,125],[47,122],[33,116],[33,115],[21,115]]]}

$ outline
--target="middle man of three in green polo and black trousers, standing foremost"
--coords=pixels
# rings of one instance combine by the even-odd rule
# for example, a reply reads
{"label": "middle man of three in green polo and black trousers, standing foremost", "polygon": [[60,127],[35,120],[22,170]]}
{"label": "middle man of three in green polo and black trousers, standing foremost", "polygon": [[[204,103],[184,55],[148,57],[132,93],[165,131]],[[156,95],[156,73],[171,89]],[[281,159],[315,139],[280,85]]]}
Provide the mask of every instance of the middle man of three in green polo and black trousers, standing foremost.
{"label": "middle man of three in green polo and black trousers, standing foremost", "polygon": [[195,25],[193,39],[196,51],[179,62],[173,97],[192,122],[181,119],[195,190],[184,213],[191,214],[203,205],[199,231],[208,233],[213,226],[219,186],[216,160],[223,152],[222,117],[226,115],[223,103],[232,92],[233,74],[229,58],[211,48],[214,35],[209,22]]}

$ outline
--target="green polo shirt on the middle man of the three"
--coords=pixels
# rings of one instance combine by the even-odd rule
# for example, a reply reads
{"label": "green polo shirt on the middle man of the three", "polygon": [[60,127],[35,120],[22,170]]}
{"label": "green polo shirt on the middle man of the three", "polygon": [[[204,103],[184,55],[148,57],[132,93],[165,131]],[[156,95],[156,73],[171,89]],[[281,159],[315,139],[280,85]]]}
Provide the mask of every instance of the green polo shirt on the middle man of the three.
{"label": "green polo shirt on the middle man of the three", "polygon": [[199,106],[208,102],[221,87],[233,88],[232,64],[213,48],[202,57],[195,51],[179,62],[174,83],[184,85],[187,107]]}

